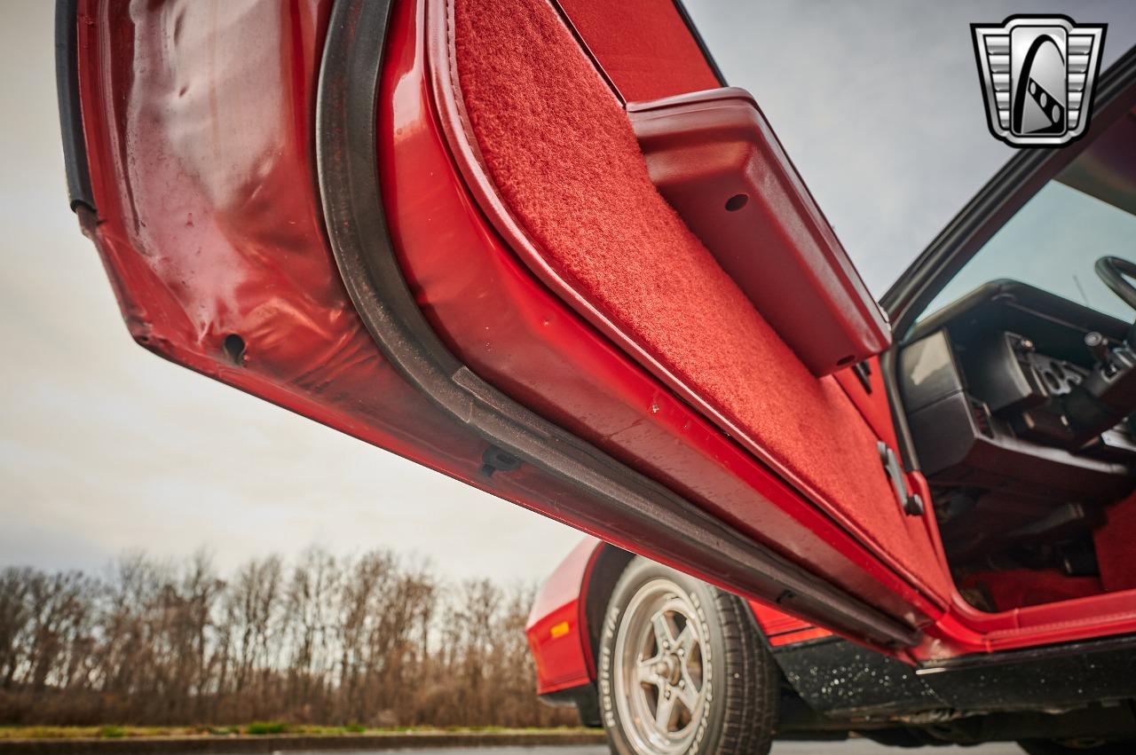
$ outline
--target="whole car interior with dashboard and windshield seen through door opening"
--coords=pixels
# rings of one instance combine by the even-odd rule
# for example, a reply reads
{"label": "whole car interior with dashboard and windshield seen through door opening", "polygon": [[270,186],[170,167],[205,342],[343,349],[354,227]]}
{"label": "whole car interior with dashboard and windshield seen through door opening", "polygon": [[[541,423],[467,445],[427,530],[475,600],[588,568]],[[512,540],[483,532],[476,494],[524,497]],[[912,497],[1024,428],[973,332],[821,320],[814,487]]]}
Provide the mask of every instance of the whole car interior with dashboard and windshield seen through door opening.
{"label": "whole car interior with dashboard and windshield seen through door opening", "polygon": [[962,595],[1005,611],[1136,587],[1136,114],[939,292],[899,358]]}

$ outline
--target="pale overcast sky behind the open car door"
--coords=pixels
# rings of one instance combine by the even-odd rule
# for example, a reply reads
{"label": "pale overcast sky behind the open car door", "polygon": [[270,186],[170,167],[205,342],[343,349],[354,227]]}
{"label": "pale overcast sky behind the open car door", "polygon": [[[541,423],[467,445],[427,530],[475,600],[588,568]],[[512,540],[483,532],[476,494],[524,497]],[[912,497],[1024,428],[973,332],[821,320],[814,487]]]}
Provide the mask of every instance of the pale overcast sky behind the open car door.
{"label": "pale overcast sky behind the open car door", "polygon": [[[1105,64],[1136,39],[1124,1],[686,1],[877,295],[1010,154],[985,125],[970,23],[1106,22]],[[576,532],[132,343],[67,209],[53,5],[0,2],[0,564],[206,546],[227,569],[317,543],[543,578]]]}

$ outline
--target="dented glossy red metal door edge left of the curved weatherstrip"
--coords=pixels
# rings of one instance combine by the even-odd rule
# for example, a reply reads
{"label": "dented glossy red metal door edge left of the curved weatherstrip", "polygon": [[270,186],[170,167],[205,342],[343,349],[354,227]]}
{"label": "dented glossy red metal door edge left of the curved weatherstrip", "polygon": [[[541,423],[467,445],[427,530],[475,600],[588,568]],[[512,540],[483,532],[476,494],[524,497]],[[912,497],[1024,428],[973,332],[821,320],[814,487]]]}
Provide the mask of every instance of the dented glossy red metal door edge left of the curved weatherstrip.
{"label": "dented glossy red metal door edge left of the curved weatherstrip", "polygon": [[[540,480],[486,485],[485,443],[384,361],[325,245],[309,187],[328,5],[214,12],[192,1],[82,2],[80,85],[99,209],[81,211],[84,232],[147,349],[532,502]],[[240,354],[226,351],[231,336]]]}

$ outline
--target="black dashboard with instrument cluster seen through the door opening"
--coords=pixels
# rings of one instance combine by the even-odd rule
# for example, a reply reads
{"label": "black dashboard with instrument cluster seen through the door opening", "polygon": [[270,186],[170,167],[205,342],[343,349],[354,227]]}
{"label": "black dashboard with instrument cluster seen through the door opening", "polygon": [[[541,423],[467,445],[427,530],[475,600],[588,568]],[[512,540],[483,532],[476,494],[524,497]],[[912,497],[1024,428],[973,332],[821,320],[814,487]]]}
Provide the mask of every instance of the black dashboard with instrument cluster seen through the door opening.
{"label": "black dashboard with instrument cluster seen through the door opening", "polygon": [[1111,417],[1086,437],[1092,425],[1077,414],[1094,380],[1127,375],[1112,361],[1127,353],[1128,328],[1013,280],[916,327],[900,352],[901,395],[952,565],[1075,540],[1131,492],[1128,421]]}

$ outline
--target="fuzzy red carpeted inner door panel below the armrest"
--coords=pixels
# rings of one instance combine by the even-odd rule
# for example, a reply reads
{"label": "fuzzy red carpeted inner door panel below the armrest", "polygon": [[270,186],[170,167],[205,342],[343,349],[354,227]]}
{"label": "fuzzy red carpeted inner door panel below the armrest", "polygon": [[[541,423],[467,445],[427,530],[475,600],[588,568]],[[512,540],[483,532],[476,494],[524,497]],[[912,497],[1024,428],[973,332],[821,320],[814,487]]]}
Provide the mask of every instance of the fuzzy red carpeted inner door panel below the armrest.
{"label": "fuzzy red carpeted inner door panel below the armrest", "polygon": [[[905,576],[945,595],[924,523],[902,513],[883,471],[878,436],[834,379],[809,374],[661,199],[626,114],[554,9],[458,0],[451,28],[450,5],[428,3],[434,97],[463,177],[511,250],[671,392]],[[401,248],[404,267],[417,275],[408,251],[417,248],[406,240]],[[458,262],[474,263],[473,255]],[[446,274],[458,274],[452,262],[438,267],[437,275]],[[432,288],[449,296],[456,284],[420,280],[421,292]],[[452,314],[429,310],[451,349],[495,381],[536,375],[518,360],[540,344],[468,349],[495,334],[517,337],[507,333],[516,317],[509,309],[473,311],[475,301],[463,294],[446,299]],[[496,325],[484,325],[491,318]],[[559,370],[540,375],[567,378]],[[551,406],[541,411],[562,406],[566,389],[549,387]],[[586,400],[569,405],[566,413],[578,421]],[[611,441],[600,433],[593,442]]]}

